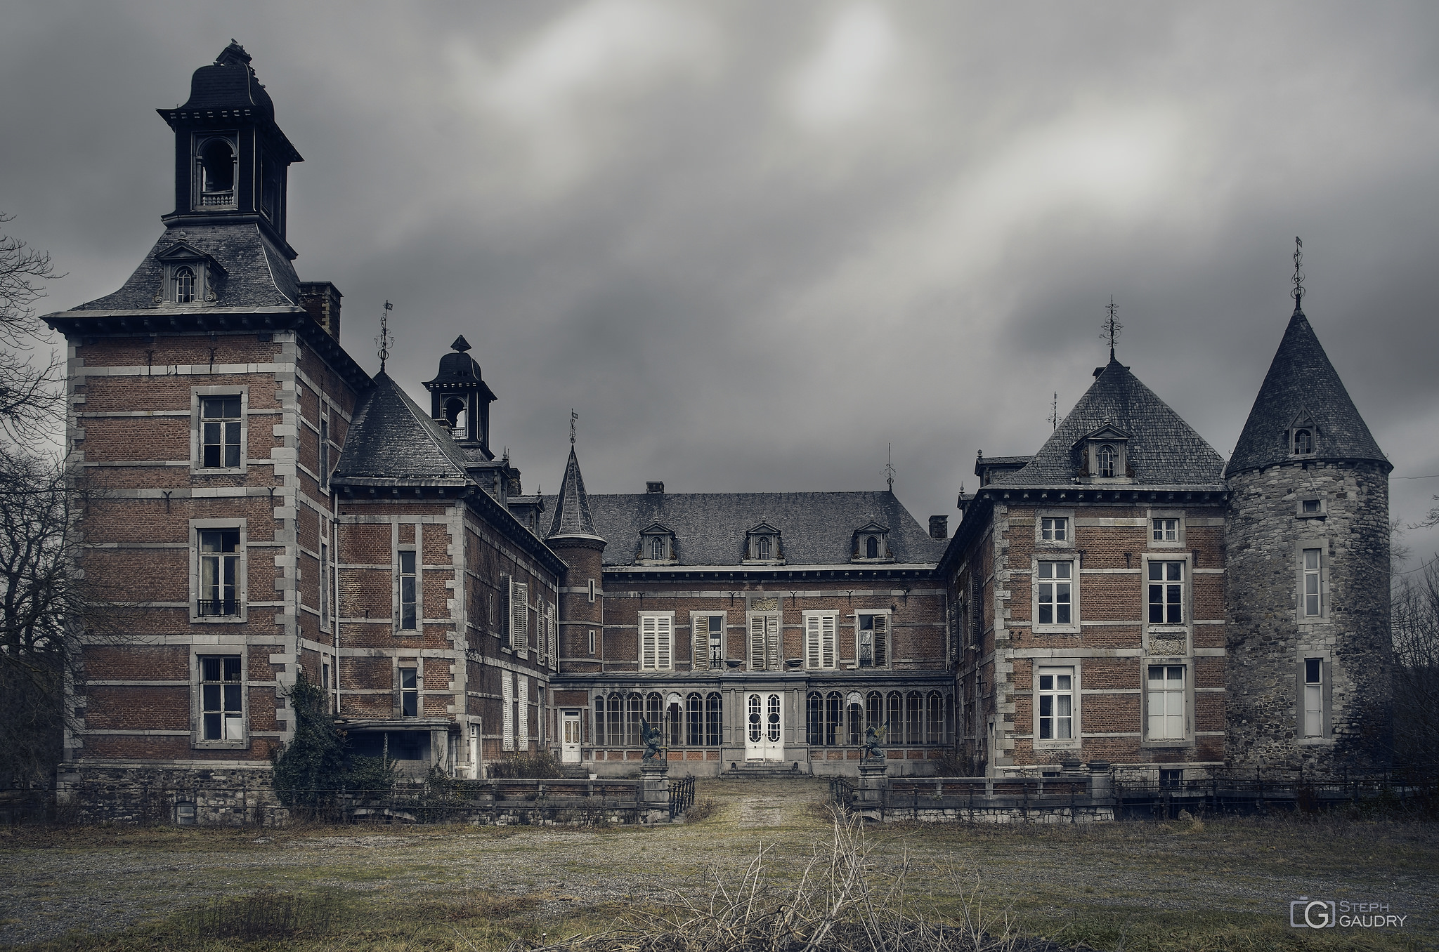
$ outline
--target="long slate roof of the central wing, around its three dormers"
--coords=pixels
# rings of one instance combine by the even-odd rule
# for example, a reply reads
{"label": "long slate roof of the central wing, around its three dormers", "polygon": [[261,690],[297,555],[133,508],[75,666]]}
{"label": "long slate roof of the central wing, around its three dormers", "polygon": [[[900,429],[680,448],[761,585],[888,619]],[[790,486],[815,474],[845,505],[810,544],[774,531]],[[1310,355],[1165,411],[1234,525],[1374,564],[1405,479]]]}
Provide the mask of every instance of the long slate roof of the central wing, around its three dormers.
{"label": "long slate roof of the central wing, around its three dormers", "polygon": [[[557,502],[554,496],[548,505]],[[659,522],[675,532],[679,565],[743,565],[745,534],[761,522],[780,531],[786,565],[849,565],[855,531],[889,526],[896,564],[932,565],[945,541],[930,538],[891,492],[591,495],[606,565],[633,565],[639,534]],[[873,565],[863,562],[863,565]]]}

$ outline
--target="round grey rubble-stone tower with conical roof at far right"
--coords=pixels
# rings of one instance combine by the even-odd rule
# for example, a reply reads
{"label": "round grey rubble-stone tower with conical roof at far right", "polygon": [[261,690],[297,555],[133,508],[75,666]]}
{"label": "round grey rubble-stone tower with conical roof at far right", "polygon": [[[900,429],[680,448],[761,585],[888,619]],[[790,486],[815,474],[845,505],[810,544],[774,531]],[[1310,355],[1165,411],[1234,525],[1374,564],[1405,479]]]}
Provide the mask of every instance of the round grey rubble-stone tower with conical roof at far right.
{"label": "round grey rubble-stone tower with conical roof at far right", "polygon": [[1301,301],[1225,472],[1226,759],[1383,768],[1393,467]]}

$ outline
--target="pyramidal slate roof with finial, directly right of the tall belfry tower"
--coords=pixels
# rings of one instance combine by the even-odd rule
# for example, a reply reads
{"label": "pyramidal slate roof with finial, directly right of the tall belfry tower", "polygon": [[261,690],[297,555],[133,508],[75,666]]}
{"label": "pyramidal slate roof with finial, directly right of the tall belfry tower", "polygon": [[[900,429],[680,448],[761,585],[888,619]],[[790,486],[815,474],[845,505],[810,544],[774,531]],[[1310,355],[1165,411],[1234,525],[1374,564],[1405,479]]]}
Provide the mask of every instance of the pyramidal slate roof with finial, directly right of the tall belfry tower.
{"label": "pyramidal slate roof with finial, directly right of the tall belfry tower", "polygon": [[389,374],[360,395],[331,482],[351,486],[460,485],[465,453]]}

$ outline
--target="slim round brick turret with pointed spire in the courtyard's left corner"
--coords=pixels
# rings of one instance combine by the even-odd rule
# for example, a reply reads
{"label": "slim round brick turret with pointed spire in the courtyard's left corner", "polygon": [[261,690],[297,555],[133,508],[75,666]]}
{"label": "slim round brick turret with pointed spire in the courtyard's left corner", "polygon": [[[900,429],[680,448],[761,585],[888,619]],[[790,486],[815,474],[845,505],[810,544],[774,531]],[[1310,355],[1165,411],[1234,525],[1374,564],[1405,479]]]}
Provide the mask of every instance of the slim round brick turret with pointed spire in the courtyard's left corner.
{"label": "slim round brick turret with pointed spire in the courtyard's left corner", "polygon": [[554,516],[545,542],[568,565],[560,588],[560,670],[599,672],[604,639],[604,539],[590,521],[590,500],[584,495],[580,460],[570,446],[564,482],[554,500]]}

